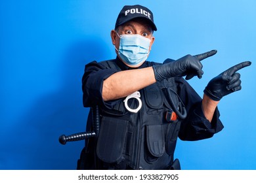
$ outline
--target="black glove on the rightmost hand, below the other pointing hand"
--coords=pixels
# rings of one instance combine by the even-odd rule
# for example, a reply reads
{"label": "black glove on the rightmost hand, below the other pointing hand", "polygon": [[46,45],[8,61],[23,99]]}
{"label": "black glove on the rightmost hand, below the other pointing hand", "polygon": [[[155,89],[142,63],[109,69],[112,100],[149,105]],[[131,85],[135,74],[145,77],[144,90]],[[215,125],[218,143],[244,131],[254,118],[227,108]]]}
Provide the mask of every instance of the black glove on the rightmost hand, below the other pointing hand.
{"label": "black glove on the rightmost hand, below the other pointing hand", "polygon": [[210,80],[203,92],[214,101],[219,101],[225,95],[241,90],[240,74],[236,71],[249,65],[251,65],[251,61],[244,61],[230,67],[230,69]]}

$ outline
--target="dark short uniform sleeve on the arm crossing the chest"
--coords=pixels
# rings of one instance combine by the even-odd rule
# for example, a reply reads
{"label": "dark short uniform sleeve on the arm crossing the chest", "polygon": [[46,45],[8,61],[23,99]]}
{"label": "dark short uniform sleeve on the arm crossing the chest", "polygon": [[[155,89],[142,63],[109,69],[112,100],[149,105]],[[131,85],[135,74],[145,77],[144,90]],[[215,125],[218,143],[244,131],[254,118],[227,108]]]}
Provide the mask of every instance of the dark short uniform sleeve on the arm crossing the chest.
{"label": "dark short uniform sleeve on the arm crossing the chest", "polygon": [[82,78],[84,107],[95,105],[108,107],[110,105],[110,102],[105,103],[102,99],[102,86],[103,81],[116,72],[116,69],[108,69],[96,61],[85,65],[85,73]]}

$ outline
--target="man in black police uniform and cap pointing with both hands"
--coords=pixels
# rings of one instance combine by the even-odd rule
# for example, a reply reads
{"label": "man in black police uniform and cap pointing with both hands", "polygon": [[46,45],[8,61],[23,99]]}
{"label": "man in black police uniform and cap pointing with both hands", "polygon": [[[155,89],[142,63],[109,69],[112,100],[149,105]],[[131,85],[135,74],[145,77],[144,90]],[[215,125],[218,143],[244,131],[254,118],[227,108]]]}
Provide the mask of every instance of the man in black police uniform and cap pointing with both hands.
{"label": "man in black police uniform and cap pointing with both hands", "polygon": [[[152,12],[125,6],[111,31],[116,59],[85,66],[83,105],[91,107],[87,130],[100,118],[100,131],[86,141],[77,169],[180,169],[173,158],[177,137],[198,141],[223,129],[217,104],[241,89],[240,63],[213,78],[203,99],[182,78],[203,75],[200,61],[212,50],[163,64],[146,61],[156,31]],[[93,116],[93,108],[99,108]]]}

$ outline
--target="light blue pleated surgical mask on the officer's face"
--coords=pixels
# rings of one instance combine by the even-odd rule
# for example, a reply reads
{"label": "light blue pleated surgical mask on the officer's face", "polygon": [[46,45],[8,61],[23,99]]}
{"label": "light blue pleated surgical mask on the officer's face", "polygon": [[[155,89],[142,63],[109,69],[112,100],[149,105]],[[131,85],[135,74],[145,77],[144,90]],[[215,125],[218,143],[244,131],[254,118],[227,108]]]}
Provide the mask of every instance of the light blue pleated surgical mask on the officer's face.
{"label": "light blue pleated surgical mask on the officer's face", "polygon": [[119,50],[117,51],[119,57],[127,65],[139,65],[148,58],[150,39],[141,35],[120,35],[119,38]]}

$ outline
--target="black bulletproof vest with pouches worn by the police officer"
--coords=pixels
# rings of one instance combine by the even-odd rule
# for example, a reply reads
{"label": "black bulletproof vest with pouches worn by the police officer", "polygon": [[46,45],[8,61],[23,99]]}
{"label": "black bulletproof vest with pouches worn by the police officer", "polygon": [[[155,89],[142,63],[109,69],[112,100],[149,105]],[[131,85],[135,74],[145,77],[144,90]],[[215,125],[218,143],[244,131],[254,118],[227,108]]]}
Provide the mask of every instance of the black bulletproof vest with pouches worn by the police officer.
{"label": "black bulletproof vest with pouches worn by the police officer", "polygon": [[[101,62],[107,68],[121,71],[114,60]],[[149,66],[157,63],[148,62]],[[139,78],[138,78],[139,79]],[[124,99],[119,99],[110,110],[100,108],[100,133],[96,142],[98,169],[169,169],[181,121],[168,122],[171,110],[167,90],[177,92],[174,78],[156,82],[140,92],[142,107],[139,112],[129,112]],[[177,95],[171,95],[179,107]],[[135,98],[127,101],[137,108]]]}

